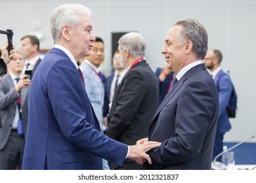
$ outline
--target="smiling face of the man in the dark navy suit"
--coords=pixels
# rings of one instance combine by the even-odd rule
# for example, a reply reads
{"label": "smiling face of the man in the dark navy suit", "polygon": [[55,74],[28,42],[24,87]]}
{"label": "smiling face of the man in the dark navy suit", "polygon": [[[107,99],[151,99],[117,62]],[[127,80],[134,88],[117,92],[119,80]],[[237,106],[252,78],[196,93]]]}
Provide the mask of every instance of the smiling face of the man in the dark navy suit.
{"label": "smiling face of the man in the dark navy suit", "polygon": [[174,25],[169,29],[165,37],[165,44],[161,50],[164,55],[167,67],[175,73],[179,73],[186,63],[185,50],[186,46],[181,45],[178,35],[181,31],[181,25]]}

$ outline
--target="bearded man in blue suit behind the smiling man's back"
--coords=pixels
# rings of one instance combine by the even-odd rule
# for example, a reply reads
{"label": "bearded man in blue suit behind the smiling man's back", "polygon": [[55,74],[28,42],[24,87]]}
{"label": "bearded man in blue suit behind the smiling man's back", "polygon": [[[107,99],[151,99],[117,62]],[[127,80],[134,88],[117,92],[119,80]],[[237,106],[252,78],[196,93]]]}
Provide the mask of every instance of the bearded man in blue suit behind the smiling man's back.
{"label": "bearded man in blue suit behind the smiling man's back", "polygon": [[[223,56],[220,50],[209,50],[204,58],[205,66],[211,71],[219,93],[219,116],[213,148],[213,159],[223,151],[224,134],[231,129],[226,108],[228,107],[234,86],[230,76],[224,73],[221,68],[222,59]],[[221,157],[217,161],[221,161]]]}

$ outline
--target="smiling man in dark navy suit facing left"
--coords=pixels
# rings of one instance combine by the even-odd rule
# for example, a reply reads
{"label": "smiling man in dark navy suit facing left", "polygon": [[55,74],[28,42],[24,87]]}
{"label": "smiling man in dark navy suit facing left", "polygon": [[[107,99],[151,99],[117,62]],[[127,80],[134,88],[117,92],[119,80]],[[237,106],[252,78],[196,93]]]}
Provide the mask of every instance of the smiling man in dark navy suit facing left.
{"label": "smiling man in dark navy suit facing left", "polygon": [[143,169],[211,169],[219,99],[202,61],[207,39],[203,25],[192,19],[179,20],[165,37],[161,53],[177,76],[148,133],[148,141],[161,146],[148,152],[152,165]]}

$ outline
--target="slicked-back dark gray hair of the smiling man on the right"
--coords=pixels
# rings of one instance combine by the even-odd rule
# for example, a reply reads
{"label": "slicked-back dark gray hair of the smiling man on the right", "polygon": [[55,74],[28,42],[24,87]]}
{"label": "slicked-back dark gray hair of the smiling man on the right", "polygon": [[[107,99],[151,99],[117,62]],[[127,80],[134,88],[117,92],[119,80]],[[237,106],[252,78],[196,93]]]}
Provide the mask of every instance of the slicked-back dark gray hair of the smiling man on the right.
{"label": "slicked-back dark gray hair of the smiling man on the right", "polygon": [[196,58],[205,58],[208,49],[208,35],[203,25],[194,19],[179,20],[174,25],[182,25],[178,37],[181,44],[191,41],[193,43],[192,52]]}

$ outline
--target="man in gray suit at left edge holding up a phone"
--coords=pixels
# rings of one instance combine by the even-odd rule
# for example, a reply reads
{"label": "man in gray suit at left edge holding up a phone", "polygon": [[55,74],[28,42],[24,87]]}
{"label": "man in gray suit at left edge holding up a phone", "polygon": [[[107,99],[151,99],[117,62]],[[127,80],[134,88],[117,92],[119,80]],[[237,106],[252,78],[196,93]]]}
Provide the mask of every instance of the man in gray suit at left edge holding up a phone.
{"label": "man in gray suit at left edge holding up a phone", "polygon": [[16,58],[9,63],[9,74],[0,82],[0,169],[21,169],[22,166],[28,122],[26,96],[30,84],[30,79],[22,76],[24,63],[22,50],[16,50]]}

